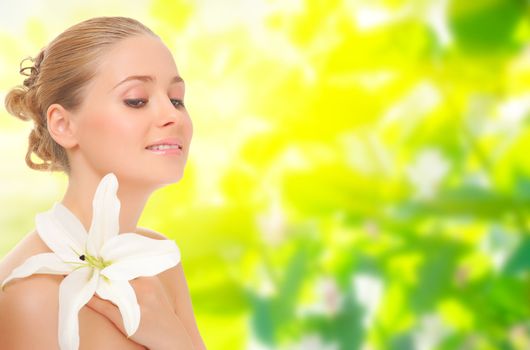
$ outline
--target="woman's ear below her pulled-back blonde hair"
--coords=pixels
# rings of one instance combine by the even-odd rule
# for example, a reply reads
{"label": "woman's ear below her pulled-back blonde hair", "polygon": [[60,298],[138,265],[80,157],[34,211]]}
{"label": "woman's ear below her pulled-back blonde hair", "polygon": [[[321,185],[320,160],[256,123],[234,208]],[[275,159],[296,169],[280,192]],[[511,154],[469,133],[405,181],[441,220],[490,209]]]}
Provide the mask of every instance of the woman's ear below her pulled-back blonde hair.
{"label": "woman's ear below her pulled-back blonde hair", "polygon": [[48,132],[59,145],[72,148],[77,145],[72,114],[60,104],[54,103],[46,111]]}

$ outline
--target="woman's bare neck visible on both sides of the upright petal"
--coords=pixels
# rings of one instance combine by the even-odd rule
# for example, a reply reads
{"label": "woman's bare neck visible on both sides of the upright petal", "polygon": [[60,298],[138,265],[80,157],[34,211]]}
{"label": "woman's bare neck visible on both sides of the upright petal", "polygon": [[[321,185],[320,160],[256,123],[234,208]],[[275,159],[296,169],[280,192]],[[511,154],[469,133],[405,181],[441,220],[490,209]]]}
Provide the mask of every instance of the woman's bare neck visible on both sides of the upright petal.
{"label": "woman's bare neck visible on both sides of the upright petal", "polygon": [[[68,208],[81,221],[88,232],[92,222],[92,200],[103,175],[76,176],[71,174],[68,188],[61,204]],[[144,206],[151,194],[149,189],[127,183],[118,178],[118,199],[120,200],[120,233],[136,232]]]}

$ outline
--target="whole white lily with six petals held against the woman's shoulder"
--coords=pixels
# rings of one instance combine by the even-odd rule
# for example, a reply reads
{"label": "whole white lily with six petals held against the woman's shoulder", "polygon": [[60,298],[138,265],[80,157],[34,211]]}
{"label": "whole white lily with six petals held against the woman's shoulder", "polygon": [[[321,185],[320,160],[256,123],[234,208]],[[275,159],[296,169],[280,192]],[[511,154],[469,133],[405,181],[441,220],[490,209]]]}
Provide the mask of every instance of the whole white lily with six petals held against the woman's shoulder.
{"label": "whole white lily with six petals held against the woman's shoulder", "polygon": [[140,307],[128,281],[153,276],[180,262],[172,240],[157,240],[136,233],[119,233],[118,180],[105,175],[94,195],[92,223],[87,234],[78,218],[55,203],[35,217],[37,232],[53,253],[29,257],[2,283],[32,274],[66,275],[59,287],[59,346],[79,347],[79,310],[94,293],[114,303],[128,336],[140,324]]}

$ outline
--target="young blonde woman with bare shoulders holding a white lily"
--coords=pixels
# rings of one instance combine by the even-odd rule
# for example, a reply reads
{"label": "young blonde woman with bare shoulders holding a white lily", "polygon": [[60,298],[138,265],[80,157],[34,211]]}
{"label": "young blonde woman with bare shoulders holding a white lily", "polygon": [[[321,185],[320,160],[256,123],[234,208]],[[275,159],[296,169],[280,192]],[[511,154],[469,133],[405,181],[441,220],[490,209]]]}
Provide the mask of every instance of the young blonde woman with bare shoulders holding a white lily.
{"label": "young blonde woman with bare shoulders holding a white lily", "polygon": [[[136,20],[98,17],[68,28],[32,62],[21,68],[24,84],[5,99],[8,112],[33,121],[27,164],[65,172],[61,204],[87,232],[98,183],[114,173],[119,232],[167,239],[137,221],[154,190],[181,179],[193,134],[168,48]],[[43,162],[34,163],[32,154]],[[49,252],[37,230],[29,233],[0,262],[0,282],[29,257]],[[33,274],[0,292],[1,349],[59,347],[63,279]],[[180,263],[130,282],[141,310],[136,332],[127,337],[118,308],[94,295],[78,314],[81,349],[205,348]]]}

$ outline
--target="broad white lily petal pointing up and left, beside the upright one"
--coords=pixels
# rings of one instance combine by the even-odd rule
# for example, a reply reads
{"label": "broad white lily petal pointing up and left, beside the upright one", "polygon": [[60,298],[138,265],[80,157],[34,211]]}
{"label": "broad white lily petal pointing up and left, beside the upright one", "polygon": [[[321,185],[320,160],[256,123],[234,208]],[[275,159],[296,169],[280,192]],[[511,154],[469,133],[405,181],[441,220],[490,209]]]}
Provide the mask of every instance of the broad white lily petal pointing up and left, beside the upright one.
{"label": "broad white lily petal pointing up and left, beside the upright one", "polygon": [[35,226],[40,238],[63,261],[76,261],[84,252],[86,230],[62,204],[55,203],[52,209],[37,214]]}

